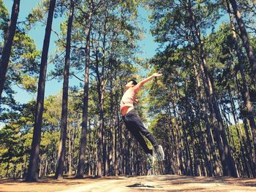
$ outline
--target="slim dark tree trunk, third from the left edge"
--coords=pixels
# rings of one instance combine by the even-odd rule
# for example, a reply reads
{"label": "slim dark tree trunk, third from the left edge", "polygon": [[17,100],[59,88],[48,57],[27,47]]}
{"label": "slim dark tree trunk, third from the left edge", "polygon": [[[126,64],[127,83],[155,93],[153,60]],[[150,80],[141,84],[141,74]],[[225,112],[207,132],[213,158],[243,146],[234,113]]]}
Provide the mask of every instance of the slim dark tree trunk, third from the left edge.
{"label": "slim dark tree trunk, third from the left edge", "polygon": [[67,45],[64,67],[64,82],[62,93],[62,109],[61,109],[61,135],[59,139],[59,153],[57,158],[56,179],[63,179],[65,148],[67,140],[67,108],[68,108],[68,95],[69,95],[69,65],[70,65],[70,44],[71,44],[71,31],[74,15],[74,1],[70,2],[69,20],[67,23]]}

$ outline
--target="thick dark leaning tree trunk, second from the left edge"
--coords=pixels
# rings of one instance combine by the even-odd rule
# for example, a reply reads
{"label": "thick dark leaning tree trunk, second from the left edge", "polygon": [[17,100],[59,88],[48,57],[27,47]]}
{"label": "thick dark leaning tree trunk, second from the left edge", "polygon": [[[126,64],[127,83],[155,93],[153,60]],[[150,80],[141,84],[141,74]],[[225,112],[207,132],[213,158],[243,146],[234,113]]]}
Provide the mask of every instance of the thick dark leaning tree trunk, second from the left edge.
{"label": "thick dark leaning tree trunk, second from the left edge", "polygon": [[42,130],[42,111],[45,99],[45,78],[47,72],[47,59],[48,59],[48,49],[50,44],[50,32],[53,23],[53,13],[55,9],[56,0],[50,0],[50,7],[48,12],[48,20],[45,28],[45,39],[42,47],[42,58],[40,64],[38,91],[37,91],[37,105],[34,120],[34,131],[33,139],[31,144],[31,155],[29,158],[29,169],[26,177],[26,181],[36,181],[37,180],[37,167],[39,158],[39,145],[41,141],[41,130]]}

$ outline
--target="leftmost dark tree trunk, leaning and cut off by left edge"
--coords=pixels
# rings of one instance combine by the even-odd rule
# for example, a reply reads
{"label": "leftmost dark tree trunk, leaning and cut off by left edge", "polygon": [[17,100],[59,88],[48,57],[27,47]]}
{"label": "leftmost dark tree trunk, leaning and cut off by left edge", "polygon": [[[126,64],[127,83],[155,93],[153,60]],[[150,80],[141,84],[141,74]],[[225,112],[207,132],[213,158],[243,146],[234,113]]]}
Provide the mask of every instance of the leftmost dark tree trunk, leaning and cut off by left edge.
{"label": "leftmost dark tree trunk, leaning and cut off by left edge", "polygon": [[[3,47],[3,51],[1,53],[1,59],[0,59],[0,69],[1,69],[0,70],[0,100],[1,100],[1,93],[3,92],[3,89],[4,89],[4,81],[7,74],[10,55],[12,52],[12,42],[13,42],[13,37],[15,36],[19,11],[20,11],[20,0],[14,0],[12,5],[12,15],[11,15],[10,23],[7,29],[4,47]],[[0,102],[0,105],[1,105],[1,102]]]}

